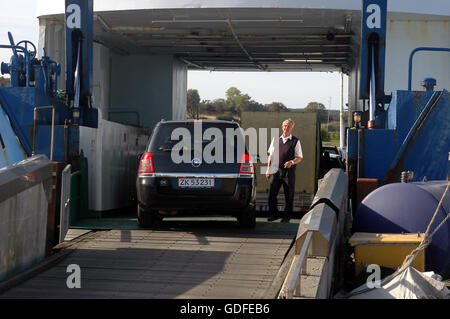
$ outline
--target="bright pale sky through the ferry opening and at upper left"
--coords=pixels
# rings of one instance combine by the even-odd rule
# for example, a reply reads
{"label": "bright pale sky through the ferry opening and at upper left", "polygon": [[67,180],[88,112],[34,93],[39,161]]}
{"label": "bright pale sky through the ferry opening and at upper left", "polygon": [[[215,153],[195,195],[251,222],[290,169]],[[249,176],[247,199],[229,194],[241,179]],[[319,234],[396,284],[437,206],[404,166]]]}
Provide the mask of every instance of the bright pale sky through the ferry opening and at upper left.
{"label": "bright pale sky through the ferry opening and at upper left", "polygon": [[[63,0],[59,0],[63,1]],[[30,40],[38,45],[39,23],[37,1],[0,2],[0,44],[9,44],[7,32],[15,42]],[[9,62],[11,50],[0,49],[0,62]],[[289,108],[303,108],[308,102],[320,102],[326,108],[340,107],[340,74],[338,72],[188,72],[188,89],[197,89],[202,99],[224,98],[235,86],[253,100],[268,104],[282,102]],[[347,77],[344,76],[344,105],[347,102]],[[331,101],[331,107],[330,107]]]}

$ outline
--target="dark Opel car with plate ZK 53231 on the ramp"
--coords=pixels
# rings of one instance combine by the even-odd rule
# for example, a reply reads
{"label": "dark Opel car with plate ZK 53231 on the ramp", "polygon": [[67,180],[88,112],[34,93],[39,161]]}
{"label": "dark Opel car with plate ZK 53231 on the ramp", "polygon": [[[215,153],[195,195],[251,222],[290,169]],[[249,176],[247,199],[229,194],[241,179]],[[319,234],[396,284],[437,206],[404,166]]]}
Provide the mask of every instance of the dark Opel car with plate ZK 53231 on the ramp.
{"label": "dark Opel car with plate ZK 53231 on the ramp", "polygon": [[235,122],[159,122],[141,156],[136,180],[141,227],[195,211],[235,216],[255,226],[256,177]]}

